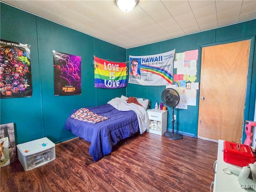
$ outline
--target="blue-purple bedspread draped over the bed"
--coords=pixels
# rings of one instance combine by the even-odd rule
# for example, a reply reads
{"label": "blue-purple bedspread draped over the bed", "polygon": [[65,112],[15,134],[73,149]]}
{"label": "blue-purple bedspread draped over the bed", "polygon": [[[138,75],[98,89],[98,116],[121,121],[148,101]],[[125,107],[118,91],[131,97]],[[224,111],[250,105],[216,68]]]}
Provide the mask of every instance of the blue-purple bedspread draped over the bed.
{"label": "blue-purple bedspread draped over the bed", "polygon": [[88,109],[98,115],[108,117],[108,120],[96,124],[76,120],[71,118],[71,115],[78,110],[76,109],[66,120],[65,128],[91,143],[89,153],[94,161],[109,154],[112,146],[120,140],[140,131],[136,113],[132,110],[119,111],[110,104],[88,107]]}

